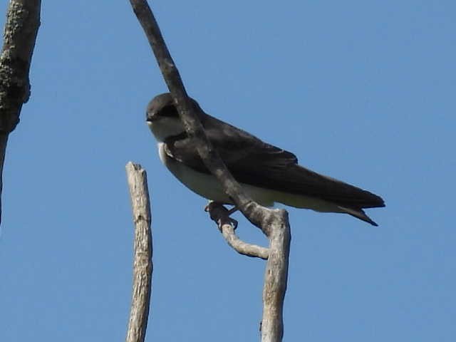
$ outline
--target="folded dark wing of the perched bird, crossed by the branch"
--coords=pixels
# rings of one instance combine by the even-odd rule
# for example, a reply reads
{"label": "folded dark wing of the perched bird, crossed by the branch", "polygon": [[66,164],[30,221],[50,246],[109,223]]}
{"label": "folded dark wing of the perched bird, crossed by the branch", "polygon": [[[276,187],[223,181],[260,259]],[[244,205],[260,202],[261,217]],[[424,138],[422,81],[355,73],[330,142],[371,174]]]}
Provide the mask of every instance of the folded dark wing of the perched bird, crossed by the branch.
{"label": "folded dark wing of the perched bird, crossed by the branch", "polygon": [[[354,209],[383,207],[383,199],[366,190],[298,165],[296,156],[266,144],[244,130],[207,115],[207,138],[238,182],[306,195]],[[199,172],[209,173],[190,138],[170,140],[167,153]]]}

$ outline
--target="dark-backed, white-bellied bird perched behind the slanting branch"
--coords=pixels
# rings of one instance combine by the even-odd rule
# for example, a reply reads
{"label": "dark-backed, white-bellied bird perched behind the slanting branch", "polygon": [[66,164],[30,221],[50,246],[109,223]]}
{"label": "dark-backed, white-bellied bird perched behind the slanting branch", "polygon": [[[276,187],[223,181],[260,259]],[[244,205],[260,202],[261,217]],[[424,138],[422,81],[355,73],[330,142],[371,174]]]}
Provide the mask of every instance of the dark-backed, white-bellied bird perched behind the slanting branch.
{"label": "dark-backed, white-bellied bird perched behind the slanting branch", "polygon": [[[299,165],[293,153],[204,113],[196,100],[190,100],[212,147],[255,202],[345,213],[378,226],[363,209],[385,207],[380,196]],[[206,199],[234,204],[199,157],[170,93],[150,100],[146,122],[158,142],[161,162],[177,180]]]}

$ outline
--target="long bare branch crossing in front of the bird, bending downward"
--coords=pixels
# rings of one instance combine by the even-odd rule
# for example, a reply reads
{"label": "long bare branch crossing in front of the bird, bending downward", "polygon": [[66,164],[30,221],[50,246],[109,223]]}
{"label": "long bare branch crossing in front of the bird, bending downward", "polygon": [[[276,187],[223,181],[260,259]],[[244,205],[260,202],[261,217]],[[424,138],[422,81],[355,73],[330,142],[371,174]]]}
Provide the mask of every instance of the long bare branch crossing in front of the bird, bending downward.
{"label": "long bare branch crossing in front of the bird, bending downward", "polygon": [[204,165],[217,177],[224,192],[252,224],[269,237],[269,258],[266,265],[263,292],[263,325],[261,341],[279,342],[283,336],[282,310],[286,291],[289,244],[291,239],[288,214],[284,209],[268,209],[254,202],[234,180],[217,150],[211,146],[199,122],[187,92],[162,38],[157,21],[145,0],[130,0],[133,11],[145,31],[170,93],[175,100],[180,119],[190,138],[197,143]]}

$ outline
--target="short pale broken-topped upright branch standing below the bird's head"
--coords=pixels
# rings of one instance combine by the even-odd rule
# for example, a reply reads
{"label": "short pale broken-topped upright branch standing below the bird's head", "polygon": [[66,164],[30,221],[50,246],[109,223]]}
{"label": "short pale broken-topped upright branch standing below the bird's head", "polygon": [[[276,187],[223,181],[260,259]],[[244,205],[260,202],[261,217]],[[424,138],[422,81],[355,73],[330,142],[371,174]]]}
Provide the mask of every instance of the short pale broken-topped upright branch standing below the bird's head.
{"label": "short pale broken-topped upright branch standing below the bird's head", "polygon": [[145,339],[152,293],[152,232],[150,228],[150,199],[147,174],[141,165],[128,162],[128,187],[130,188],[133,222],[135,222],[135,257],[133,261],[133,294],[128,323],[127,342]]}

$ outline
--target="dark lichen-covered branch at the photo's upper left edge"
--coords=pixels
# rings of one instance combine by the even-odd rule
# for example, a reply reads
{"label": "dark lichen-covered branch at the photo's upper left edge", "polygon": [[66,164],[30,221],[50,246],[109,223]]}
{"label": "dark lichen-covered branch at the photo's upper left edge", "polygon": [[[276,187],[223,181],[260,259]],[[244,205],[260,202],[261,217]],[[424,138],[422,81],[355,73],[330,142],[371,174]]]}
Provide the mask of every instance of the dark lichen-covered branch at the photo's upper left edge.
{"label": "dark lichen-covered branch at the photo's upper left edge", "polygon": [[11,0],[0,56],[0,222],[3,165],[8,135],[30,96],[28,71],[40,26],[40,0]]}

